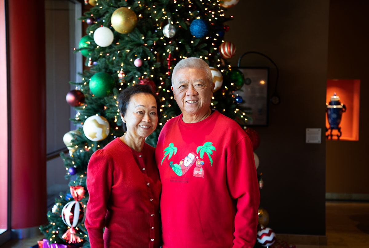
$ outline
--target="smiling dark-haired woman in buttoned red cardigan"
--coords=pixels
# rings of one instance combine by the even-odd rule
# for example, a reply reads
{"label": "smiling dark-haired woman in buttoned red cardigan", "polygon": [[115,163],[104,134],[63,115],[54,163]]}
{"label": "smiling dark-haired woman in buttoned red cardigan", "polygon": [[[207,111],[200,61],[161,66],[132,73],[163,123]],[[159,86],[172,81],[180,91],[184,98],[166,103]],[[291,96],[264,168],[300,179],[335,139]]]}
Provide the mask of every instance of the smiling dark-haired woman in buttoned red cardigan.
{"label": "smiling dark-haired woman in buttoned red cardigan", "polygon": [[160,247],[162,186],[155,149],[145,143],[158,123],[159,102],[147,85],[125,89],[118,101],[126,133],[94,152],[87,167],[90,245]]}

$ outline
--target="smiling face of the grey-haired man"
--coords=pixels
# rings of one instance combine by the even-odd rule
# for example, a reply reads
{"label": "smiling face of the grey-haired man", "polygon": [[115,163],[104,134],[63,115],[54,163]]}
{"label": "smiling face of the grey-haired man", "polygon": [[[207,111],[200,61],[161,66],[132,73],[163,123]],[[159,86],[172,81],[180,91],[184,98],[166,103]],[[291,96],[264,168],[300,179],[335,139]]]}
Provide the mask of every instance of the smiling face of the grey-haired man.
{"label": "smiling face of the grey-haired man", "polygon": [[209,82],[202,68],[182,68],[176,72],[172,91],[184,116],[206,115],[214,83]]}

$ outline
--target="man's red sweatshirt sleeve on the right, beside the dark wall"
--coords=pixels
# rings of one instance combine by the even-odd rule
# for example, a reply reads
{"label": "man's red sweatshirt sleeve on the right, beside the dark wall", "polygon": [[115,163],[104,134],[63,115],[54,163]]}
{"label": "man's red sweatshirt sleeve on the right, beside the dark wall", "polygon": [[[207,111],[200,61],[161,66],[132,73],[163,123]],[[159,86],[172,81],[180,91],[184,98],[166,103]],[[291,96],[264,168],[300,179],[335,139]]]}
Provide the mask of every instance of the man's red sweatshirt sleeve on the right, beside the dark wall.
{"label": "man's red sweatshirt sleeve on the right, beside the dark wall", "polygon": [[260,192],[254,152],[249,137],[243,137],[227,158],[227,184],[237,199],[233,248],[254,247],[258,225]]}

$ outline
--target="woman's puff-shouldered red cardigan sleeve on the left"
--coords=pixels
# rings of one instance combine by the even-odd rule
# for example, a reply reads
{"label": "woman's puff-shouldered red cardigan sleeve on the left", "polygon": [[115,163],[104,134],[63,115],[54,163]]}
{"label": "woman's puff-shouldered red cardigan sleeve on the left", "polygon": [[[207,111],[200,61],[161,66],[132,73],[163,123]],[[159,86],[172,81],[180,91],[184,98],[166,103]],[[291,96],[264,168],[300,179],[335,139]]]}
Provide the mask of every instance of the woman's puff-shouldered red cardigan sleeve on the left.
{"label": "woman's puff-shouldered red cardigan sleeve on the left", "polygon": [[91,248],[104,248],[103,228],[112,181],[113,169],[110,158],[104,150],[97,150],[90,158],[86,179],[89,200],[86,207],[85,226]]}

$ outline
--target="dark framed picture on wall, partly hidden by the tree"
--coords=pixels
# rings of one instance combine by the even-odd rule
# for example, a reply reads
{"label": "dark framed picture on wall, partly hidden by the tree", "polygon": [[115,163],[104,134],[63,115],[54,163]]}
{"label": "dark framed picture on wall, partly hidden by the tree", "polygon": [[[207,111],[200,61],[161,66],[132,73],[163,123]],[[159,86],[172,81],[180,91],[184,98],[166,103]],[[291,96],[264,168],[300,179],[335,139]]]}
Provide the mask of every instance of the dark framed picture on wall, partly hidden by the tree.
{"label": "dark framed picture on wall, partly hidden by the tree", "polygon": [[239,67],[245,77],[245,83],[239,91],[235,91],[242,97],[239,103],[245,108],[251,109],[252,120],[248,119],[246,125],[267,126],[268,125],[268,67]]}

